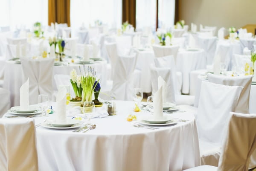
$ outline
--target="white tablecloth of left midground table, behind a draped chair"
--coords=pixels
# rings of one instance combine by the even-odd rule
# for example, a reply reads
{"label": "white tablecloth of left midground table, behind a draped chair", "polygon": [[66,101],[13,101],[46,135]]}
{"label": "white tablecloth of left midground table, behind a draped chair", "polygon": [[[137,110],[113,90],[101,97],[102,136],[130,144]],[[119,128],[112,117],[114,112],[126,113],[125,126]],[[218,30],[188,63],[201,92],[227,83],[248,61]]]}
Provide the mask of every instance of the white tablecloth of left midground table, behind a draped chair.
{"label": "white tablecloth of left midground table, behind a draped chair", "polygon": [[[60,65],[53,67],[53,75],[52,75],[52,86],[53,90],[57,90],[57,86],[55,85],[54,75],[56,74],[64,74],[70,75],[70,71],[75,69],[76,72],[80,73],[79,66],[81,69],[83,65],[81,64],[68,64],[68,65]],[[107,62],[106,61],[95,61],[93,64],[86,64],[85,67],[90,66],[96,70],[97,78],[100,79],[102,87],[106,85],[107,82]],[[47,70],[47,69],[46,69]],[[9,90],[11,92],[11,107],[19,106],[20,104],[20,86],[25,82],[25,78],[23,75],[23,70],[21,64],[16,64],[15,61],[6,61],[5,62],[5,70],[4,70],[4,84],[3,88]]]}

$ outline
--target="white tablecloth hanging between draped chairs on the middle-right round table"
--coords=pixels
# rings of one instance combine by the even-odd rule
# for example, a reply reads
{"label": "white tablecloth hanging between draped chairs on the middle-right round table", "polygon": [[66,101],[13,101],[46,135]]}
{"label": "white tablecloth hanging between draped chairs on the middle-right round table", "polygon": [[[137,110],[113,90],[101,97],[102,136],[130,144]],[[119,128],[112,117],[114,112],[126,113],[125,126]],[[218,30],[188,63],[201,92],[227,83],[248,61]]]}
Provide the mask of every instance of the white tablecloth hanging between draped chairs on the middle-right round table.
{"label": "white tablecloth hanging between draped chairs on the middle-right round table", "polygon": [[197,51],[179,51],[177,56],[177,71],[182,72],[182,93],[189,93],[189,73],[193,70],[206,68],[206,56],[203,49]]}

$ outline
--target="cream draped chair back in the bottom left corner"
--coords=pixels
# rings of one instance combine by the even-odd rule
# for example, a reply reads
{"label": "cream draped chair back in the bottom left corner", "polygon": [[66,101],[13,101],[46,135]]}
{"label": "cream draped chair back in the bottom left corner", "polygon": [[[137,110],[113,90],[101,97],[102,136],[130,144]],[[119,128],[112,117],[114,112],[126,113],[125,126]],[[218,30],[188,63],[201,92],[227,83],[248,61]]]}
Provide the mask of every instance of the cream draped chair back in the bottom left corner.
{"label": "cream draped chair back in the bottom left corner", "polygon": [[38,171],[35,123],[32,119],[0,119],[2,171]]}

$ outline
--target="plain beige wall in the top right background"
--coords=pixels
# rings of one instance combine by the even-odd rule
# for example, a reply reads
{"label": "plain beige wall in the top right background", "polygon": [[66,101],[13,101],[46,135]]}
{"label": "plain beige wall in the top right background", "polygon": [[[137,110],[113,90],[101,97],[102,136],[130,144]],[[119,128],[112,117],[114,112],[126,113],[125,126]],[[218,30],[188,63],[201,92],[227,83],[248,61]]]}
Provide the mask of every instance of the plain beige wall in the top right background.
{"label": "plain beige wall in the top right background", "polygon": [[256,0],[179,0],[179,19],[186,24],[236,29],[256,23]]}

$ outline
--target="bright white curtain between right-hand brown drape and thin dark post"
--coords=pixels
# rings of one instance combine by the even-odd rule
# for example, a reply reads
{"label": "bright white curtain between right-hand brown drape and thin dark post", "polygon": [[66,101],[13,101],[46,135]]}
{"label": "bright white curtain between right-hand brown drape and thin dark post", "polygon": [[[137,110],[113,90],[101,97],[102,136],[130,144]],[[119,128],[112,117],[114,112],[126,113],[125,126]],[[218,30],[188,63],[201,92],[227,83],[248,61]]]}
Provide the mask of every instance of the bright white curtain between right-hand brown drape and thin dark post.
{"label": "bright white curtain between right-hand brown drape and thin dark post", "polygon": [[143,29],[151,27],[156,29],[156,0],[137,0],[136,1],[136,28]]}

